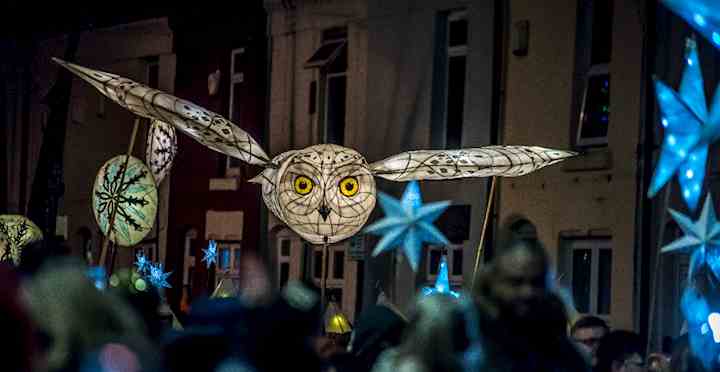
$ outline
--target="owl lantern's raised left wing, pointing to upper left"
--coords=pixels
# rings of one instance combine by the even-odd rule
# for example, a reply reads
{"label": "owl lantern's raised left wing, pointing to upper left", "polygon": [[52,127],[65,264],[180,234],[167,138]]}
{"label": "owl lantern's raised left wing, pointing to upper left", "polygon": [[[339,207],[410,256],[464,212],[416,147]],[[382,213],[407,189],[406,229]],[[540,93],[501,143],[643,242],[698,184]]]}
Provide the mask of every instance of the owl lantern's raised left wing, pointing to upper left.
{"label": "owl lantern's raised left wing, pointing to upper left", "polygon": [[136,115],[170,123],[203,145],[246,163],[269,162],[267,154],[247,132],[212,111],[115,74],[57,58],[53,61]]}

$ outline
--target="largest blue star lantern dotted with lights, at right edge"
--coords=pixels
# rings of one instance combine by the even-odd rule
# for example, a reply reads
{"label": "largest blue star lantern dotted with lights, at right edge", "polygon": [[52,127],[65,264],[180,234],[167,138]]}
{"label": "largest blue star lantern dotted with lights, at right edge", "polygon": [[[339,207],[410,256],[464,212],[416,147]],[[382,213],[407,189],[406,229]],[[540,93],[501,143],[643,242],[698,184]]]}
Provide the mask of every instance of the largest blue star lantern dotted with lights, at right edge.
{"label": "largest blue star lantern dotted with lights, at right edge", "polygon": [[650,197],[655,196],[677,174],[685,203],[691,210],[697,207],[705,179],[708,147],[720,138],[718,92],[708,113],[697,49],[695,42],[688,40],[686,65],[679,92],[655,80],[665,139],[648,190]]}

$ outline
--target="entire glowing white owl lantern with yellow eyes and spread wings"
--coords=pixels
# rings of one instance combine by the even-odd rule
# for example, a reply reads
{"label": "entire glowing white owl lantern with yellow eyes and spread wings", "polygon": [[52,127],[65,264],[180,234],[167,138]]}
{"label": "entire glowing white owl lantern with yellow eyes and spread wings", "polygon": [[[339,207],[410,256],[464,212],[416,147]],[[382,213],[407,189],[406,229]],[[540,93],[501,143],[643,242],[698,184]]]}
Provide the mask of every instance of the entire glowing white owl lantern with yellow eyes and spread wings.
{"label": "entire glowing white owl lantern with yellow eyes and spread wings", "polygon": [[537,146],[485,146],[407,151],[368,164],[353,149],[322,144],[270,159],[221,115],[115,74],[53,60],[134,114],[169,123],[212,150],[264,167],[251,181],[262,185],[265,204],[313,244],[337,243],[363,227],[375,207],[374,177],[400,182],[515,177],[577,155]]}

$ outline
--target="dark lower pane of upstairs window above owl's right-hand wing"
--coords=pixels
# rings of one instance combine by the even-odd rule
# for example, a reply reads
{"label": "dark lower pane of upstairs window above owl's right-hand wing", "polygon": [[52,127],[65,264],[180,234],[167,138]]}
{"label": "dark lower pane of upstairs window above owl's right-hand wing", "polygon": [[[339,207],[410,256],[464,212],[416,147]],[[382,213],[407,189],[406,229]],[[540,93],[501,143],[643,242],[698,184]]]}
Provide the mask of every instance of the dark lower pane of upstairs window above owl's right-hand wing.
{"label": "dark lower pane of upstairs window above owl's right-hand wing", "polygon": [[445,147],[460,148],[462,144],[463,110],[465,107],[465,56],[450,57],[448,63],[447,118]]}

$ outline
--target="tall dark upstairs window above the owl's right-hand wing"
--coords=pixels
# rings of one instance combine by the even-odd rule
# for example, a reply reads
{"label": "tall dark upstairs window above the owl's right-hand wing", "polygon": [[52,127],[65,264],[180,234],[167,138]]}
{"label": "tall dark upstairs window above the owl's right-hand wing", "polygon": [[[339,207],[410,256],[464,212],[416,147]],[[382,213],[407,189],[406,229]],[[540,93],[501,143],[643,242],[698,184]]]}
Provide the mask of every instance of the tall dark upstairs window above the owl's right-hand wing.
{"label": "tall dark upstairs window above the owl's right-hand wing", "polygon": [[462,147],[467,81],[467,13],[441,13],[436,23],[435,73],[433,79],[433,146]]}

